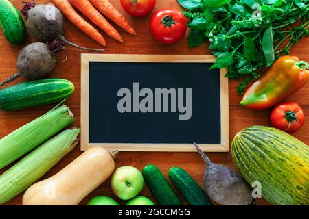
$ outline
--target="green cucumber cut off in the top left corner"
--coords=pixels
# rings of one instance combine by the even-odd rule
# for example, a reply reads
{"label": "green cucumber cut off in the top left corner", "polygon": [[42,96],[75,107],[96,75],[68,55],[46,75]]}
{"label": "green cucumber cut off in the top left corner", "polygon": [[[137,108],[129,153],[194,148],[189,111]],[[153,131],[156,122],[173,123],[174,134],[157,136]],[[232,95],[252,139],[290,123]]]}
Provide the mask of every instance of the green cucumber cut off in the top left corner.
{"label": "green cucumber cut off in the top left corner", "polygon": [[8,42],[19,45],[27,37],[21,14],[8,0],[0,0],[0,26]]}

